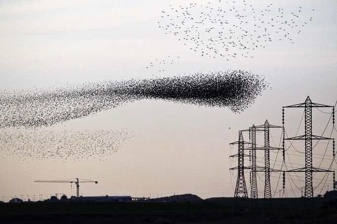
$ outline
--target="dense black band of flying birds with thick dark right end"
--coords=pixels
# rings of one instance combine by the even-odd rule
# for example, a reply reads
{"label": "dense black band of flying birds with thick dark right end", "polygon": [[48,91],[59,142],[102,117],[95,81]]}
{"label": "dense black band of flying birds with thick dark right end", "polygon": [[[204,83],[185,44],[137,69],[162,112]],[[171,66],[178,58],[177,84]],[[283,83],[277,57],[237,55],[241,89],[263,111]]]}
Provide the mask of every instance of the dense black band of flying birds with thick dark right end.
{"label": "dense black band of flying birds with thick dark right end", "polygon": [[239,70],[2,91],[0,128],[49,126],[142,99],[228,107],[241,112],[267,85],[264,78]]}

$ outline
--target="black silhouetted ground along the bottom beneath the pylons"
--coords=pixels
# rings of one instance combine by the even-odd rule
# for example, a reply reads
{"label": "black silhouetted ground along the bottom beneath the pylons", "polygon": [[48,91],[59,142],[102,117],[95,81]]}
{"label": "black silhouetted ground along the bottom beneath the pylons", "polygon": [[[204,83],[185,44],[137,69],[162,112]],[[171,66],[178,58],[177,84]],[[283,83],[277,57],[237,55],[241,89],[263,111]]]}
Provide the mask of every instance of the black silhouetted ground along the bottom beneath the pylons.
{"label": "black silhouetted ground along the bottom beneath the pylons", "polygon": [[[241,199],[241,200],[240,200]],[[36,202],[0,204],[1,224],[335,223],[337,199],[211,198],[197,202]]]}

